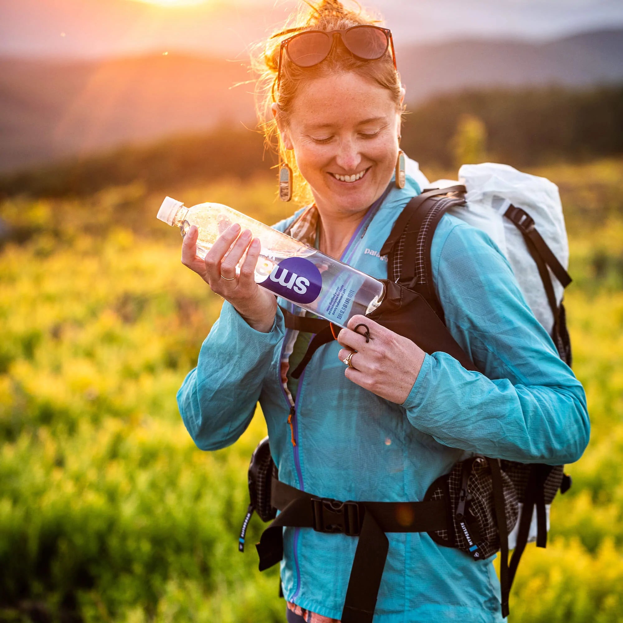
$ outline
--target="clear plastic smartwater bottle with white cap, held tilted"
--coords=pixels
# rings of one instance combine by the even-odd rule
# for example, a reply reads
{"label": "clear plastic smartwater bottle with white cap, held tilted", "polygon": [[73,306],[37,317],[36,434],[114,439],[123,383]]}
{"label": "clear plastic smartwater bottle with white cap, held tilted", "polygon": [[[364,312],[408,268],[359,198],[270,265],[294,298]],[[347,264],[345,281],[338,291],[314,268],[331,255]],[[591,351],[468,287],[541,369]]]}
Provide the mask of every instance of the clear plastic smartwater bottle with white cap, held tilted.
{"label": "clear plastic smartwater bottle with white cap, held tilted", "polygon": [[383,300],[384,285],[379,280],[231,207],[219,203],[185,207],[181,201],[166,197],[158,218],[179,227],[182,236],[196,226],[197,255],[201,258],[232,224],[238,223],[240,231],[250,229],[262,243],[255,282],[336,325],[346,326],[351,316],[372,312]]}

